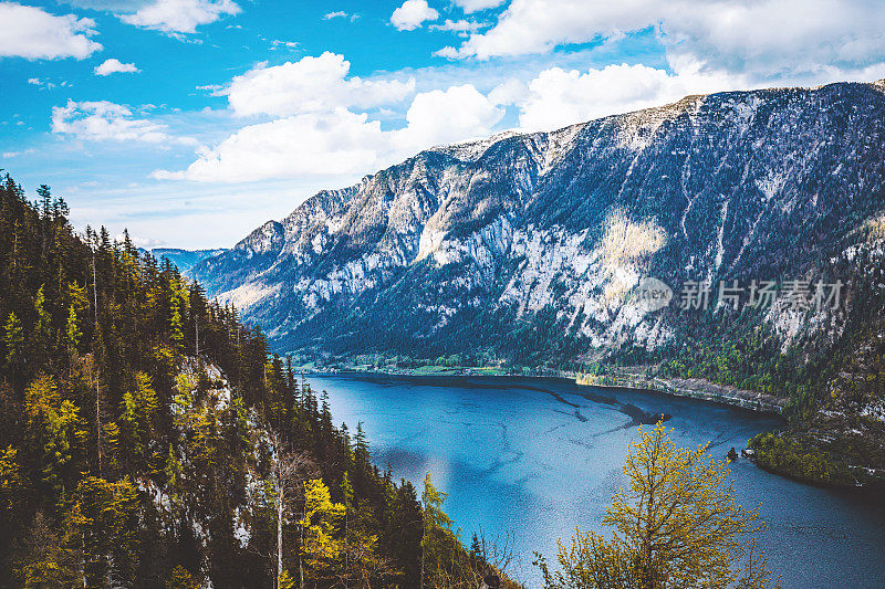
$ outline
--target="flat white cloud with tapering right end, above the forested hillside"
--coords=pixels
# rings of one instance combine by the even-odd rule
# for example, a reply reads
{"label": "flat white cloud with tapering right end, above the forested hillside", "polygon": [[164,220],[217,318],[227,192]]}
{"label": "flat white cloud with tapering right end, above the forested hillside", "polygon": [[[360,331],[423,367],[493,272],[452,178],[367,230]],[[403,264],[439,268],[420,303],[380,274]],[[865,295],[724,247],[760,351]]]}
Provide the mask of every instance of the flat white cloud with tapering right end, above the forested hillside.
{"label": "flat white cloud with tapering right end, above the forested hillside", "polygon": [[67,101],[65,106],[53,106],[52,133],[88,141],[197,145],[190,137],[169,135],[165,125],[135,118],[127,106],[107,101],[81,103]]}

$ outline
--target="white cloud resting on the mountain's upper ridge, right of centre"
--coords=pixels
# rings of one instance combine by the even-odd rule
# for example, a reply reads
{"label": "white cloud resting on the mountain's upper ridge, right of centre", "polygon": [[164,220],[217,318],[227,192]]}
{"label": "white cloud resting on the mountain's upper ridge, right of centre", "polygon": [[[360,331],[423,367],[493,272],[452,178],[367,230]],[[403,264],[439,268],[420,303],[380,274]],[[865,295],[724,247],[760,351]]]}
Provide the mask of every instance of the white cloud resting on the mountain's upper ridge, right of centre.
{"label": "white cloud resting on the mountain's upper ridge, right of centre", "polygon": [[639,108],[660,106],[688,94],[707,94],[733,87],[727,77],[699,73],[668,74],[646,65],[607,65],[602,70],[544,70],[527,88],[508,85],[492,97],[516,104],[520,126],[552,130],[573,123]]}

